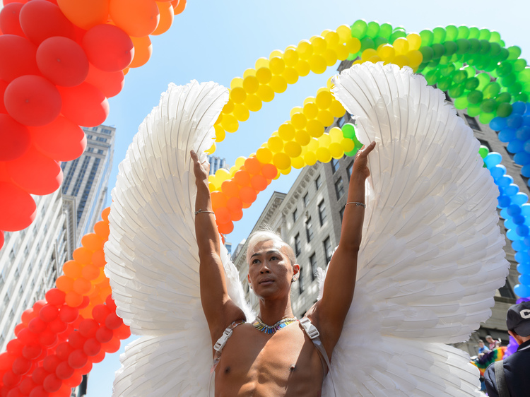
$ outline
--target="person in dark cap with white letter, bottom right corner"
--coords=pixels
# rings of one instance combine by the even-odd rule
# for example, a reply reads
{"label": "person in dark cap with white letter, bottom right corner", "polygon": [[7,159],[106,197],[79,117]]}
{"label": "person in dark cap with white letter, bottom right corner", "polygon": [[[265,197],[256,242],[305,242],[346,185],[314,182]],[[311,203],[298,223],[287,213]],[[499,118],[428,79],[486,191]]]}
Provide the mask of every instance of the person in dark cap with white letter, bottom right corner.
{"label": "person in dark cap with white letter, bottom right corner", "polygon": [[490,365],[484,373],[490,397],[530,396],[530,302],[514,304],[506,316],[508,333],[517,341],[517,352]]}

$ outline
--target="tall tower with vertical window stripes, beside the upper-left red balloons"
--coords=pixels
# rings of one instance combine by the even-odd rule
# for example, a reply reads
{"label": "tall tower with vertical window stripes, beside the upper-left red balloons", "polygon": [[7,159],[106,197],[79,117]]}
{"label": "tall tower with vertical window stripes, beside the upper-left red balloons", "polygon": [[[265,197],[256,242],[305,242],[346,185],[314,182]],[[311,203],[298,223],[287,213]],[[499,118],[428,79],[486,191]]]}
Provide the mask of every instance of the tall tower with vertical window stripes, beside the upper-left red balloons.
{"label": "tall tower with vertical window stripes, beside the upper-left red balloons", "polygon": [[112,126],[84,128],[87,146],[80,158],[63,162],[62,192],[76,213],[76,247],[81,238],[93,230],[107,199],[107,185],[114,155]]}

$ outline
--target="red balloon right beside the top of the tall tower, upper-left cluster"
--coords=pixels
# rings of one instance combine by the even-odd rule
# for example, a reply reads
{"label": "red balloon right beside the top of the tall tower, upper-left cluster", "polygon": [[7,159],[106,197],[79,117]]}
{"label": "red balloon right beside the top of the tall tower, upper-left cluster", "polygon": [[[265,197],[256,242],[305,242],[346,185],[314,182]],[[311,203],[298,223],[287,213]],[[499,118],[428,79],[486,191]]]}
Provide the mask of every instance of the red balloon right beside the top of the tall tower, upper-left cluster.
{"label": "red balloon right beside the top of the tall tower, upper-left cluster", "polygon": [[29,131],[35,147],[42,154],[57,161],[74,160],[82,155],[86,148],[83,129],[66,117],[59,116],[45,126],[30,127]]}

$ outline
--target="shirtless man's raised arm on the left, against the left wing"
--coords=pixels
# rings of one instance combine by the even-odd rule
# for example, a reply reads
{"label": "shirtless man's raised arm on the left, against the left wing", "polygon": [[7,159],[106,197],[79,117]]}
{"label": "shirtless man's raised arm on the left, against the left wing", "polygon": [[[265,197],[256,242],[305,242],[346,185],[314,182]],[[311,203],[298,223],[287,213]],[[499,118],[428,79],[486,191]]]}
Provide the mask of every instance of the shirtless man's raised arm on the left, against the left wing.
{"label": "shirtless man's raised arm on the left, against the left wing", "polygon": [[230,300],[226,288],[225,271],[220,260],[219,233],[208,189],[208,162],[201,164],[193,150],[191,154],[197,185],[195,211],[201,210],[195,215],[195,234],[200,260],[201,303],[212,341],[215,343],[232,321],[245,319],[245,313]]}

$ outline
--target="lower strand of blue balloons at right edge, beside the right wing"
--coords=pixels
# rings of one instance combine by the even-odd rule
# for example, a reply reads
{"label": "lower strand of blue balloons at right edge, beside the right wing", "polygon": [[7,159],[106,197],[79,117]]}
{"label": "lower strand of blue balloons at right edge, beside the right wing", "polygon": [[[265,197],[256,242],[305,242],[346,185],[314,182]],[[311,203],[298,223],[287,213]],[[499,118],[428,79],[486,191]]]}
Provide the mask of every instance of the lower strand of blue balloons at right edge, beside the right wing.
{"label": "lower strand of blue balloons at right edge, beside the right wing", "polygon": [[490,171],[495,184],[499,187],[498,208],[500,216],[505,220],[506,237],[512,241],[515,260],[519,262],[519,284],[514,286],[514,292],[519,297],[530,297],[530,203],[528,195],[519,191],[514,179],[506,174],[506,167],[500,162],[502,156],[496,152],[488,152],[488,148],[481,146],[479,150],[484,159],[484,165]]}

